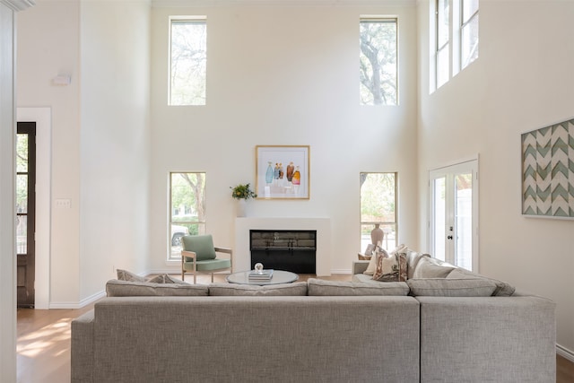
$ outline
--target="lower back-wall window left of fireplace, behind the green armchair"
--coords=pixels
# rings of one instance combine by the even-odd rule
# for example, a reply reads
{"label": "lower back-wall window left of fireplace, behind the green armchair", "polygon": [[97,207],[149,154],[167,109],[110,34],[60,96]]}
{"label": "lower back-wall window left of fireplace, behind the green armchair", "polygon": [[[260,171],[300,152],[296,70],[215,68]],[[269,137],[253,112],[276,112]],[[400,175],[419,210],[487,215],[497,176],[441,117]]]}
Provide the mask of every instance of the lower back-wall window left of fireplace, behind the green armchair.
{"label": "lower back-wall window left of fireplace, behind the green armchair", "polygon": [[181,237],[205,233],[205,173],[170,173],[170,255],[180,259]]}

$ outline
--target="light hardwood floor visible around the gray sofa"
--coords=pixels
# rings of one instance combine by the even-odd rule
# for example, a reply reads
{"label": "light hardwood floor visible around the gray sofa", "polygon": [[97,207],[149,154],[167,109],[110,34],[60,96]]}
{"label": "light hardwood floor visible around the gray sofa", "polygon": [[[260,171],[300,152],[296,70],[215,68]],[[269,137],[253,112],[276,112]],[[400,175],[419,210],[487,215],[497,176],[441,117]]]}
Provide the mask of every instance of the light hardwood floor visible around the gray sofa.
{"label": "light hardwood floor visible around the gray sofa", "polygon": [[[178,275],[173,275],[178,278]],[[181,275],[179,275],[180,277]],[[222,283],[225,275],[215,275]],[[307,281],[314,275],[300,275]],[[350,275],[332,275],[332,281],[350,281]],[[198,283],[210,283],[209,275],[200,275]],[[84,312],[83,309],[18,309],[18,382],[62,383],[70,381],[70,323]],[[0,378],[0,380],[2,380]],[[574,383],[574,363],[556,355],[556,382]]]}

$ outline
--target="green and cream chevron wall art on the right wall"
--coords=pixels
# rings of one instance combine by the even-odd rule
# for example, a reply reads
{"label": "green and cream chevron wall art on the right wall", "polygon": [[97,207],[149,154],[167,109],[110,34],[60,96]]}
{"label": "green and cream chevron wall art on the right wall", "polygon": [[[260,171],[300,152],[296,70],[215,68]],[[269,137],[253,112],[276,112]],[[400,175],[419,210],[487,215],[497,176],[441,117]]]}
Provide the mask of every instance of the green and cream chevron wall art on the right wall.
{"label": "green and cream chevron wall art on the right wall", "polygon": [[574,118],[522,135],[522,213],[574,218]]}

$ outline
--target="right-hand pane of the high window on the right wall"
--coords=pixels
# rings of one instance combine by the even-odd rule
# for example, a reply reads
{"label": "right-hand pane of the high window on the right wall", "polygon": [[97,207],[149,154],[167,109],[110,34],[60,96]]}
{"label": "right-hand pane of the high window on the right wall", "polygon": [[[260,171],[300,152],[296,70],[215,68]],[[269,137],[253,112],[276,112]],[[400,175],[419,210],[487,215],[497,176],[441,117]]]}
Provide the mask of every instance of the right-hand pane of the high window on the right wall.
{"label": "right-hand pane of the high window on the right wall", "polygon": [[478,57],[478,0],[463,0],[460,18],[460,68]]}

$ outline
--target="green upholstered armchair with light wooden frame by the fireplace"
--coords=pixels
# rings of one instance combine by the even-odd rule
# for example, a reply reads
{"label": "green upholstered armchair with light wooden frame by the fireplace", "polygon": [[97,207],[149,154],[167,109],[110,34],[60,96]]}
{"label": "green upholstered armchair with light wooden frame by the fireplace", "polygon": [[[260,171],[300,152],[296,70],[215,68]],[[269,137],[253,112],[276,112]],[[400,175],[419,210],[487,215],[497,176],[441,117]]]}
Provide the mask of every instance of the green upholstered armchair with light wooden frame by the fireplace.
{"label": "green upholstered armchair with light wooden frame by the fireplace", "polygon": [[[215,248],[211,234],[186,235],[181,238],[181,280],[185,280],[186,273],[194,274],[196,283],[197,273],[210,273],[229,269],[231,271],[231,258],[233,251],[230,248]],[[229,254],[229,258],[218,258],[216,253]]]}

